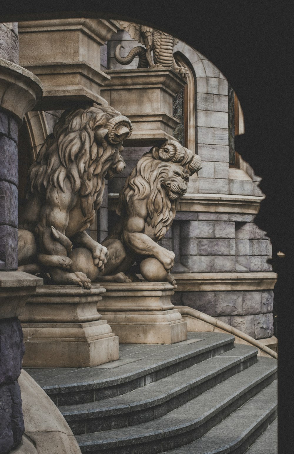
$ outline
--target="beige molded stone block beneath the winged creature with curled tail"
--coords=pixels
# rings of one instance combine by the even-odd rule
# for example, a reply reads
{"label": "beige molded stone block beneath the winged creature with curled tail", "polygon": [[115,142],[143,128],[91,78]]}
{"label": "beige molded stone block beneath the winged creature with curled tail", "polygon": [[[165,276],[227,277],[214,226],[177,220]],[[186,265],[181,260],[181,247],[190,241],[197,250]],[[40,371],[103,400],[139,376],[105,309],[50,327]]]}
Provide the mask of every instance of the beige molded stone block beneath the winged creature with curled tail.
{"label": "beige molded stone block beneath the winged creature with curled tail", "polygon": [[172,98],[185,85],[175,71],[164,69],[110,69],[101,94],[114,109],[132,121],[127,146],[153,145],[174,139],[178,120],[172,116]]}

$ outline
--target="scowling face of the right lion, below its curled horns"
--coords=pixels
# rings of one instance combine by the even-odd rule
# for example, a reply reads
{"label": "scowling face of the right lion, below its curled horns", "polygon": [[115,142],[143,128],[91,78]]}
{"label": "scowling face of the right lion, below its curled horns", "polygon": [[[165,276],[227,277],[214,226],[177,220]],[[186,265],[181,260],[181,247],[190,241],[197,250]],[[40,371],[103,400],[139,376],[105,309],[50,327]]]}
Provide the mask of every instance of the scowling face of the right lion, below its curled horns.
{"label": "scowling face of the right lion, below its curled horns", "polygon": [[183,167],[168,163],[168,168],[164,172],[162,187],[167,192],[170,200],[175,200],[187,192],[189,174]]}

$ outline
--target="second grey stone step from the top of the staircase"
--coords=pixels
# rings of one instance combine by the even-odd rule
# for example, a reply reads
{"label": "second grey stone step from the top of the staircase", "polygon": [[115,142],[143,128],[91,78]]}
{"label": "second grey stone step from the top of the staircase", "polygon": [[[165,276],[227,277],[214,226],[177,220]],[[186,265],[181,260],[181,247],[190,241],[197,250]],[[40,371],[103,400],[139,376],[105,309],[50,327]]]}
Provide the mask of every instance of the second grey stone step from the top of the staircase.
{"label": "second grey stone step from the top of the staircase", "polygon": [[167,414],[256,361],[255,347],[235,345],[233,350],[130,393],[59,410],[74,435],[131,426]]}

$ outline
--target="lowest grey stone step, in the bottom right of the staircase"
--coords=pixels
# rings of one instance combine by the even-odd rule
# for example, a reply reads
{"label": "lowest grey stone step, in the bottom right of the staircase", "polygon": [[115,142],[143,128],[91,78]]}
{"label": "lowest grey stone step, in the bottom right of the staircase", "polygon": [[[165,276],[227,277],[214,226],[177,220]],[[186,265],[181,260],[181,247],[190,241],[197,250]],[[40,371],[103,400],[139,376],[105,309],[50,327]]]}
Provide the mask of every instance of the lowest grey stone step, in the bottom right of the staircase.
{"label": "lowest grey stone step, in the bottom right of the staircase", "polygon": [[[275,381],[267,386],[196,441],[163,452],[278,454],[276,385]],[[250,446],[249,449],[248,446]]]}

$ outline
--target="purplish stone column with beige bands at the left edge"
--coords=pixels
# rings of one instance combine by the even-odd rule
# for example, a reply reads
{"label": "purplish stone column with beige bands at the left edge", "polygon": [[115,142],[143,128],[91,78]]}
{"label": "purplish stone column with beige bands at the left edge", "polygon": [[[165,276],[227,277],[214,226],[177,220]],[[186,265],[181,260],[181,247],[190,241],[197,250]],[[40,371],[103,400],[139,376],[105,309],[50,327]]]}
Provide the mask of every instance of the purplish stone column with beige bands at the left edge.
{"label": "purplish stone column with beige bands at the left edge", "polygon": [[24,355],[18,316],[43,280],[17,269],[18,126],[42,95],[34,74],[18,65],[17,23],[0,24],[0,452],[24,433],[20,375]]}

